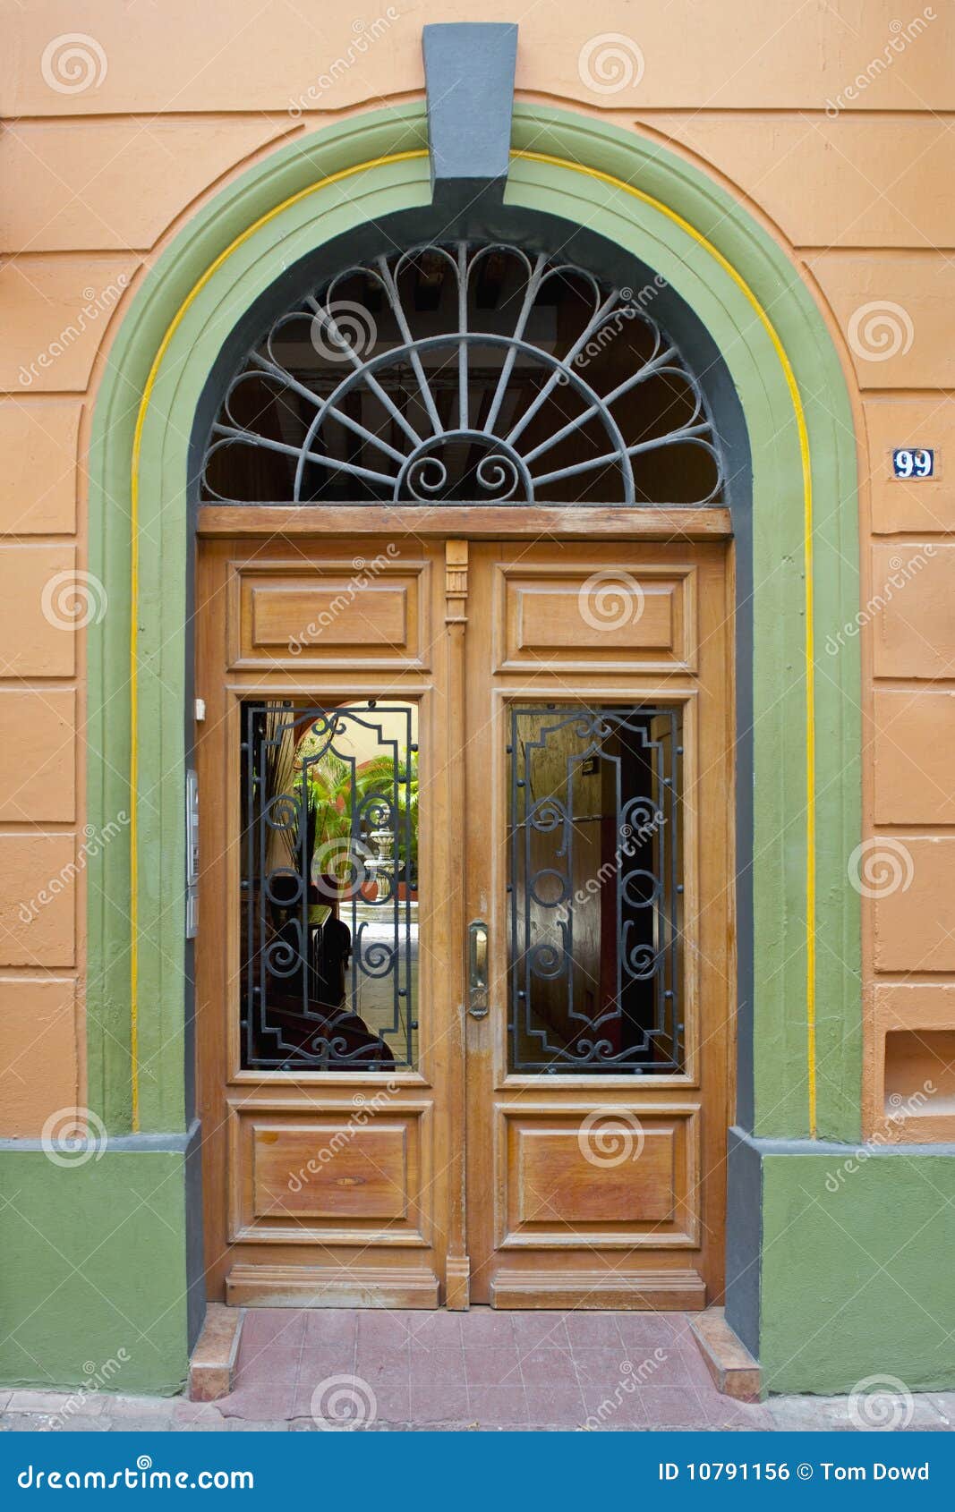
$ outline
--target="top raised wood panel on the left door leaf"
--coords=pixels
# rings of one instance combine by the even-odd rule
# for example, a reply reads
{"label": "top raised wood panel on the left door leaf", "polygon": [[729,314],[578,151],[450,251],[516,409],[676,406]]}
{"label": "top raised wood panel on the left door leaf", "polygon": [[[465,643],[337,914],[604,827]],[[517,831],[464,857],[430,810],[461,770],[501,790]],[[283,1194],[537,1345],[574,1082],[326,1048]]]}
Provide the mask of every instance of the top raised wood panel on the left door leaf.
{"label": "top raised wood panel on the left door leaf", "polygon": [[233,564],[229,665],[422,667],[427,564]]}

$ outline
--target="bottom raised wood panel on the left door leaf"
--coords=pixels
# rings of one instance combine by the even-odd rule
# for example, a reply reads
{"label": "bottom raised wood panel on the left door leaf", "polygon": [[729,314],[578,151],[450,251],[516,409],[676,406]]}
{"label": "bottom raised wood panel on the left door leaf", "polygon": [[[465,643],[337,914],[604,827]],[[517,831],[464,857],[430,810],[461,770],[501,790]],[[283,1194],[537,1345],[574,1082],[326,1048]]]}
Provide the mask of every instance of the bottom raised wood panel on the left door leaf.
{"label": "bottom raised wood panel on the left door leaf", "polygon": [[269,1243],[424,1244],[428,1107],[356,1120],[230,1104],[232,1237]]}

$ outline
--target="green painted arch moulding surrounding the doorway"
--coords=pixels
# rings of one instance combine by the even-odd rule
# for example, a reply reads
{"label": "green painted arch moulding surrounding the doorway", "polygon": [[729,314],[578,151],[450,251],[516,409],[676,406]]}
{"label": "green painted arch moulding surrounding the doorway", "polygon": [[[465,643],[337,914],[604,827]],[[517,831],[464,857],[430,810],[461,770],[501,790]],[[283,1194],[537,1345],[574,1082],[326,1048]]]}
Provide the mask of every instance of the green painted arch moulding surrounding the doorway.
{"label": "green painted arch moulding surrounding the doorway", "polygon": [[[345,121],[265,159],[171,242],[109,351],[89,455],[89,567],[106,587],[109,612],[89,632],[88,810],[89,823],[106,824],[130,806],[130,478],[142,410],[136,1061],[145,1131],[182,1128],[188,1116],[182,800],[192,419],[226,339],[282,269],[365,221],[430,203],[425,147],[424,106],[412,104]],[[716,342],[742,402],[754,494],[755,1132],[810,1132],[811,927],[817,1131],[855,1139],[860,916],[846,862],[860,835],[860,671],[854,649],[825,665],[819,653],[813,659],[808,919],[804,458],[784,367],[789,361],[805,416],[816,500],[813,624],[822,647],[858,609],[855,442],[838,354],[785,253],[686,160],[590,118],[528,106],[515,109],[513,148],[509,201],[586,224],[660,272]],[[770,311],[778,345],[754,301]],[[89,1102],[117,1131],[132,1122],[129,904],[129,854],[104,847],[89,877]]]}

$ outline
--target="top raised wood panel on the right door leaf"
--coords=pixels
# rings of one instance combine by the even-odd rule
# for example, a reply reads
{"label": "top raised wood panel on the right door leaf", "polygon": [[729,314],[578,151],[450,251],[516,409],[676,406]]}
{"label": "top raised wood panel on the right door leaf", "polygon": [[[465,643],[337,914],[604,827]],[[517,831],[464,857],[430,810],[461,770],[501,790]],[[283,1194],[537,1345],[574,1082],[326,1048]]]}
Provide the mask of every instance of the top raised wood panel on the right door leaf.
{"label": "top raised wood panel on the right door leaf", "polygon": [[693,569],[575,564],[501,567],[501,670],[692,670]]}

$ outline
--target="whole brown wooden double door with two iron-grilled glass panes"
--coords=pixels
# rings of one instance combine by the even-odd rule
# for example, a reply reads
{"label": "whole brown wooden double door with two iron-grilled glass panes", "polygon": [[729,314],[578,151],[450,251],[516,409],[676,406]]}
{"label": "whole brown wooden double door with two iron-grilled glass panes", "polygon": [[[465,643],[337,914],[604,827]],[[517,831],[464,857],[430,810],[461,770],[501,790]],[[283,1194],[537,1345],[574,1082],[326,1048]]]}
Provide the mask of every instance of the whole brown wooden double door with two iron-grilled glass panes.
{"label": "whole brown wooden double door with two iron-grilled glass panes", "polygon": [[197,579],[210,1297],[716,1300],[729,543],[222,532]]}

